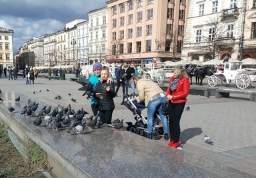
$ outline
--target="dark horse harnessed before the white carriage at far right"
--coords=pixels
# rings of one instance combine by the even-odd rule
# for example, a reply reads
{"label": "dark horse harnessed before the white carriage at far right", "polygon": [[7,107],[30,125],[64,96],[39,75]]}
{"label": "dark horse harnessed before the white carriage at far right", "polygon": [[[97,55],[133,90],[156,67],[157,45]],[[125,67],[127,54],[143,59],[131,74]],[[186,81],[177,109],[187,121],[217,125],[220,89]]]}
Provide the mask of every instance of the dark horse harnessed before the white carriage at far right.
{"label": "dark horse harnessed before the white carriage at far right", "polygon": [[[189,75],[190,85],[192,85],[192,77],[195,76],[195,85],[203,85],[205,76],[211,76],[215,73],[214,67],[201,67],[200,65],[185,65],[187,75]],[[199,82],[200,79],[200,82]]]}

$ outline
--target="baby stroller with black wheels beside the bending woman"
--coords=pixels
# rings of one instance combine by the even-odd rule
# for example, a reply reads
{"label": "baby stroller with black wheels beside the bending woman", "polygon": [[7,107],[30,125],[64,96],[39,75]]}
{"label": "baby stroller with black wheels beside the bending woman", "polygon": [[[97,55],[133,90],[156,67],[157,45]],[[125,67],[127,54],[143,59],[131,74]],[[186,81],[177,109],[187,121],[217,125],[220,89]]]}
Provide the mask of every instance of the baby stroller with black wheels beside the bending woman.
{"label": "baby stroller with black wheels beside the bending woman", "polygon": [[[133,115],[135,115],[135,124],[133,123],[127,123],[127,131],[130,131],[132,133],[137,133],[138,135],[147,135],[147,108],[145,107],[138,107],[136,106],[136,103],[134,102],[135,95],[125,95],[123,100],[123,105],[125,105],[130,111],[133,112]],[[157,115],[155,114],[154,119],[154,125],[153,125],[153,139],[160,139],[159,135],[163,134],[163,127],[159,125],[159,121],[161,121]]]}

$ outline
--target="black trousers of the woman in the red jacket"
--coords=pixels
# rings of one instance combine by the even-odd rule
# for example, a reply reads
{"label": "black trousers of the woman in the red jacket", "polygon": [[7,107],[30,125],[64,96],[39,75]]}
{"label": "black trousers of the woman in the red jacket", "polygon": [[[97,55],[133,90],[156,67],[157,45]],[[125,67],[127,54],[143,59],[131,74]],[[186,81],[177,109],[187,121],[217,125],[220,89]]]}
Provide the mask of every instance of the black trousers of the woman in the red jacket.
{"label": "black trousers of the woman in the red jacket", "polygon": [[181,115],[183,113],[186,102],[184,103],[169,103],[168,115],[169,115],[169,132],[170,139],[175,143],[179,141],[179,135],[181,134]]}

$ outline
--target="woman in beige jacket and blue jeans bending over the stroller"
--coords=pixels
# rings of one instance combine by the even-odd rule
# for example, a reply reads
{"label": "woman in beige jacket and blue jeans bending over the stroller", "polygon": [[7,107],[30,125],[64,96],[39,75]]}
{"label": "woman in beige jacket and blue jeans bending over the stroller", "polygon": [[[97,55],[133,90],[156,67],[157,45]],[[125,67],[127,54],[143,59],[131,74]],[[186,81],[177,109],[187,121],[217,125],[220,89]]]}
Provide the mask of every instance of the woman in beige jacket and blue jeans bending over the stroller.
{"label": "woman in beige jacket and blue jeans bending over the stroller", "polygon": [[145,106],[147,107],[147,137],[149,139],[153,139],[153,118],[156,111],[159,111],[159,116],[163,123],[164,138],[165,140],[168,140],[169,136],[167,117],[161,112],[162,105],[166,101],[165,93],[157,85],[157,83],[149,79],[142,79],[141,76],[133,77],[131,82],[136,85],[137,91],[139,93],[137,102],[145,102]]}

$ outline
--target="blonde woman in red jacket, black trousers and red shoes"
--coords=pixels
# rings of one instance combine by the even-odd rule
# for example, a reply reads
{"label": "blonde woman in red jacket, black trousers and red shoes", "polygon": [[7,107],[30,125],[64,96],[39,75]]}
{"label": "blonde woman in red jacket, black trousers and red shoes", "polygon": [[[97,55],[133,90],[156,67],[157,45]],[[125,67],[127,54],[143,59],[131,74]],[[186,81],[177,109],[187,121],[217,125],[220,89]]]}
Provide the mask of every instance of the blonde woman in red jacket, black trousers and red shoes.
{"label": "blonde woman in red jacket, black trousers and red shoes", "polygon": [[168,115],[169,115],[169,131],[170,131],[170,147],[179,147],[179,135],[181,133],[180,120],[189,95],[189,78],[184,67],[177,67],[173,70],[173,77],[169,81],[169,87],[166,91],[167,99],[169,99]]}

